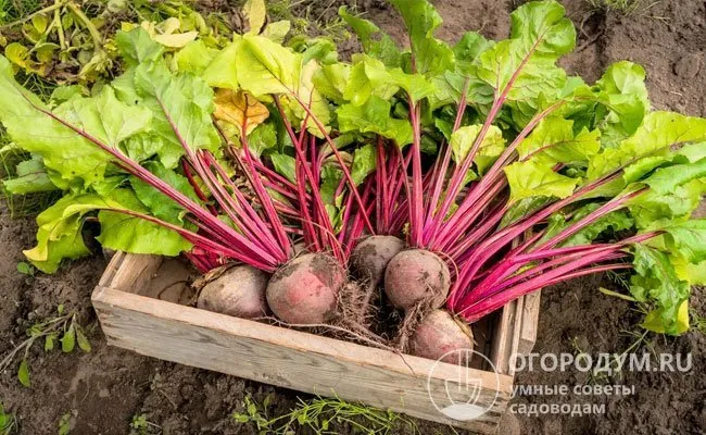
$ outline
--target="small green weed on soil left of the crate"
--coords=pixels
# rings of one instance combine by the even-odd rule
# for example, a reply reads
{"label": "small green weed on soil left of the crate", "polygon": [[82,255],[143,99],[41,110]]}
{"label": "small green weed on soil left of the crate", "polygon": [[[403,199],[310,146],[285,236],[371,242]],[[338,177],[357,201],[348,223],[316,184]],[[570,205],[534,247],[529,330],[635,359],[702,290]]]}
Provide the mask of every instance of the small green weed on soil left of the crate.
{"label": "small green weed on soil left of the crate", "polygon": [[65,313],[63,304],[56,308],[56,312],[58,315],[55,318],[35,323],[27,330],[27,339],[15,346],[0,361],[0,372],[7,370],[15,359],[20,358],[17,380],[25,387],[29,387],[29,350],[37,340],[41,339],[43,339],[43,349],[46,352],[52,351],[56,346],[61,346],[61,350],[64,353],[73,352],[76,346],[85,352],[91,350],[90,343],[86,338],[84,327],[78,323],[76,314]]}

